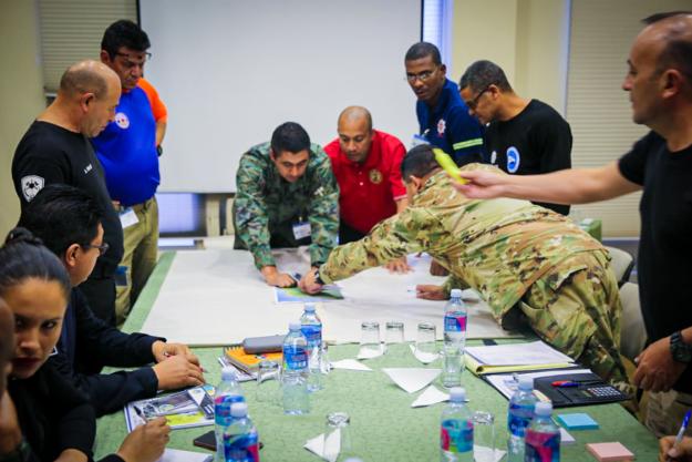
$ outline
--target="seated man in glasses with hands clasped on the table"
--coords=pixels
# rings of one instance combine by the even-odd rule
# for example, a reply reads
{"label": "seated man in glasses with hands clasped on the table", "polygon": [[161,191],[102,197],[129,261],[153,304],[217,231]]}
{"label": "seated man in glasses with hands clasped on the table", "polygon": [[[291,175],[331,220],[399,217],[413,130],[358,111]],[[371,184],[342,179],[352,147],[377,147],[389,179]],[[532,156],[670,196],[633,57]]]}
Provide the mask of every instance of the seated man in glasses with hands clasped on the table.
{"label": "seated man in glasses with hands clasped on the table", "polygon": [[[70,276],[70,300],[49,362],[84,392],[96,417],[120,411],[133,400],[152,398],[158,390],[204,383],[199,361],[187,346],[145,333],[124,333],[94,317],[81,285],[107,248],[102,215],[102,208],[84,192],[52,184],[24,207],[19,220],[19,226],[60,258]],[[104,366],[144,367],[100,373]]]}

